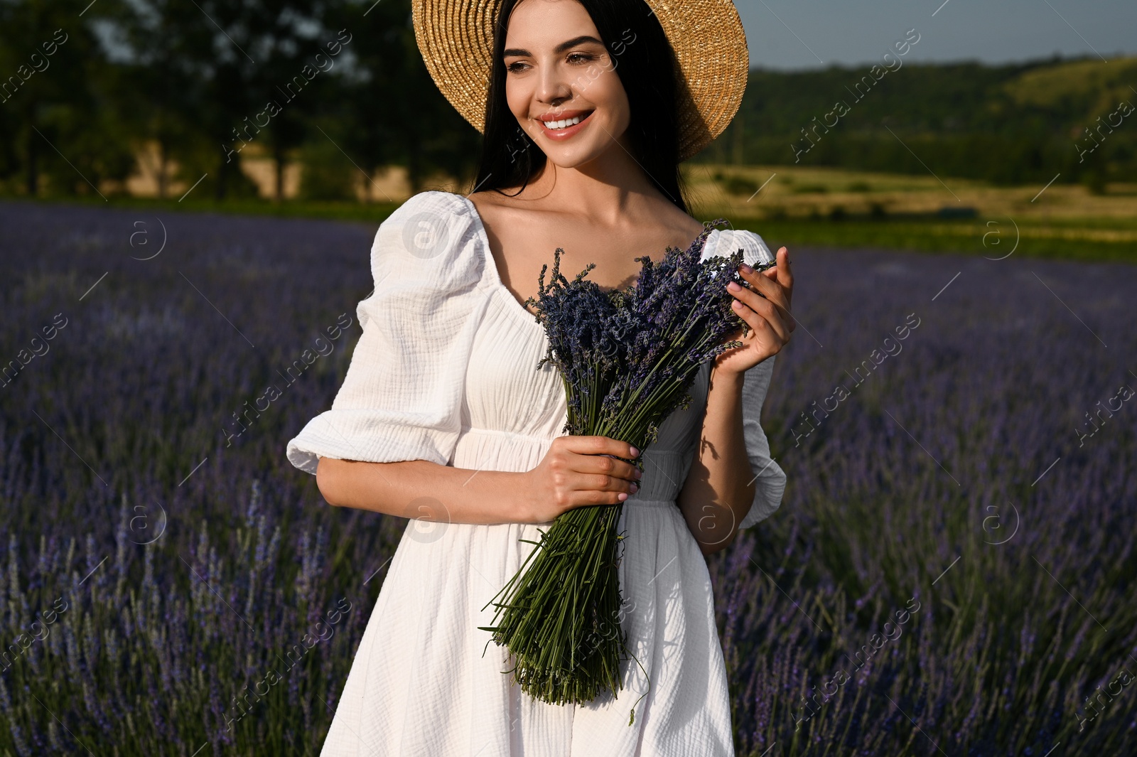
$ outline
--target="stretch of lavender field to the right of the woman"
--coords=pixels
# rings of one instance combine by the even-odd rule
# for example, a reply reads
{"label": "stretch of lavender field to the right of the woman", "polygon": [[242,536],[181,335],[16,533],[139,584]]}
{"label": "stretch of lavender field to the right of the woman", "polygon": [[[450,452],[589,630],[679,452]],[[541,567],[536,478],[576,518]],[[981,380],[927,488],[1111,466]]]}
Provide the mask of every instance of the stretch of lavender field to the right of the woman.
{"label": "stretch of lavender field to the right of the woman", "polygon": [[786,500],[712,564],[740,754],[1132,752],[1137,271],[795,274],[764,410]]}

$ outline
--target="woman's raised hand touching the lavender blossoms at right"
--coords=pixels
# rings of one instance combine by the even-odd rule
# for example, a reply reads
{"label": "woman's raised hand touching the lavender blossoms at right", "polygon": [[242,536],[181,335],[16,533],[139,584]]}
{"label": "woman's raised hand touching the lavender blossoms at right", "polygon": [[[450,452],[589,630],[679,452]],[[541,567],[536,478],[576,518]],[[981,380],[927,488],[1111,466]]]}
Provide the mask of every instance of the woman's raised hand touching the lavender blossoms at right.
{"label": "woman's raised hand touching the lavender blossoms at right", "polygon": [[750,332],[744,336],[739,328],[727,340],[740,340],[742,346],[728,349],[715,358],[713,368],[716,373],[741,374],[753,368],[777,355],[789,342],[790,332],[797,327],[789,311],[794,274],[790,273],[789,252],[785,247],[778,250],[777,260],[777,266],[762,273],[745,264],[739,266],[742,278],[754,289],[735,283],[727,286],[727,291],[735,297],[735,313],[749,325]]}

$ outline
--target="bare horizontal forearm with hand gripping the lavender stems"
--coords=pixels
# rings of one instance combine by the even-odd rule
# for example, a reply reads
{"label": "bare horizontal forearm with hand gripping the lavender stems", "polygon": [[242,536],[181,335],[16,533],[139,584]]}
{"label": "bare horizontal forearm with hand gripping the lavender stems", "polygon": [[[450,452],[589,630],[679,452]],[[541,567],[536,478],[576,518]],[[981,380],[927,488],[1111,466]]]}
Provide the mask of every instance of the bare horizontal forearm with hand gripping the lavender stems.
{"label": "bare horizontal forearm with hand gripping the lavender stems", "polygon": [[[607,457],[607,456],[615,457]],[[526,473],[471,471],[430,460],[359,463],[321,457],[316,485],[329,505],[442,523],[548,523],[637,491],[639,456],[608,436],[558,436]]]}

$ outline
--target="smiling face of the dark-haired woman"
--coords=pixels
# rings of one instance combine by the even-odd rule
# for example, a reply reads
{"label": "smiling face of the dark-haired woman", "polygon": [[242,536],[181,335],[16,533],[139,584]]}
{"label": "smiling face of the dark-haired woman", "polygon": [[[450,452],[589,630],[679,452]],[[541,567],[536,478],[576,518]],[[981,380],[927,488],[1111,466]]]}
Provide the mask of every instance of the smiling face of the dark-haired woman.
{"label": "smiling face of the dark-haired woman", "polygon": [[555,165],[587,164],[626,131],[631,108],[616,65],[576,0],[522,0],[514,7],[505,42],[506,100]]}

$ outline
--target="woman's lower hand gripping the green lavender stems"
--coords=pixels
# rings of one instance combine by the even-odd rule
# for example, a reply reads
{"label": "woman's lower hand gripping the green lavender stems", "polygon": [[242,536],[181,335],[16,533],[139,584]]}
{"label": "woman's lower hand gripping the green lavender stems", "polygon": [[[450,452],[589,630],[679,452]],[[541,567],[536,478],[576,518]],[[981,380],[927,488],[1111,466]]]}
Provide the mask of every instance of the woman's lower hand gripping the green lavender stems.
{"label": "woman's lower hand gripping the green lavender stems", "polygon": [[574,507],[619,505],[636,493],[640,451],[609,436],[557,436],[545,458],[523,474],[522,523],[548,523]]}

